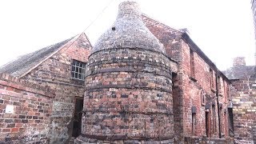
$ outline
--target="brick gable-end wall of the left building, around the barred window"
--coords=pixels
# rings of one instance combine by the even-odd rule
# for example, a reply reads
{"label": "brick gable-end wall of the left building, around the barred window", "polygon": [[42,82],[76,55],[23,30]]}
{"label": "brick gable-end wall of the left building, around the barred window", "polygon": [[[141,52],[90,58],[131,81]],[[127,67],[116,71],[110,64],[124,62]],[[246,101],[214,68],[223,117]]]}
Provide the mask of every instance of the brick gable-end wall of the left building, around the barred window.
{"label": "brick gable-end wall of the left building, around the barred window", "polygon": [[73,59],[87,62],[90,49],[90,42],[82,34],[23,77],[56,90],[50,117],[50,143],[64,143],[72,137],[74,100],[83,97],[84,81],[71,78],[71,63]]}

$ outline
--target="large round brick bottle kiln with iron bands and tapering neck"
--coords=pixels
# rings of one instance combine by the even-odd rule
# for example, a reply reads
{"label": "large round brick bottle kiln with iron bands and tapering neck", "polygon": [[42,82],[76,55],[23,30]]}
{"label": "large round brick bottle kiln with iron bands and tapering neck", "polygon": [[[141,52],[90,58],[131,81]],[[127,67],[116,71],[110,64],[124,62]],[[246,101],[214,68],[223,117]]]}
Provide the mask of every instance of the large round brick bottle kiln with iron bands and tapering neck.
{"label": "large round brick bottle kiln with iron bands and tapering neck", "polygon": [[90,54],[75,143],[173,142],[175,65],[142,22],[138,4],[122,2]]}

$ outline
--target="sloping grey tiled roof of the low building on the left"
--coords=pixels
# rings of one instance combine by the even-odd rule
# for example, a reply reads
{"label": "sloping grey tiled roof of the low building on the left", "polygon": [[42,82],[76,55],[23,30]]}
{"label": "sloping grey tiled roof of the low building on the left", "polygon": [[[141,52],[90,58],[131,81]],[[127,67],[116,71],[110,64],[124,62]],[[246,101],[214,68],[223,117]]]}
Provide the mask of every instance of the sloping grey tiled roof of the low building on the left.
{"label": "sloping grey tiled roof of the low building on the left", "polygon": [[6,63],[6,65],[0,67],[0,73],[21,77],[22,74],[26,74],[27,71],[32,69],[34,66],[37,66],[40,62],[44,61],[50,56],[50,54],[54,54],[54,52],[60,50],[63,46],[66,45],[67,42],[70,42],[70,40],[73,38],[69,38],[65,41],[47,46],[40,50],[34,51],[33,53],[22,55],[14,61]]}

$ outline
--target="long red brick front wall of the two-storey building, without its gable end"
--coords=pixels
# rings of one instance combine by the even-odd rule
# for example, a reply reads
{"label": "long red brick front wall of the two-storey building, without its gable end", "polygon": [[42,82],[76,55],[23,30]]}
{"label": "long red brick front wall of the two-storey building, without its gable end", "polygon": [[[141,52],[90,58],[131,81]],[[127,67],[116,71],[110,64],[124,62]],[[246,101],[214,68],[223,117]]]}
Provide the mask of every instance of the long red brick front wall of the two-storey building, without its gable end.
{"label": "long red brick front wall of the two-storey building, without its gable end", "polygon": [[[211,62],[207,62],[202,55],[190,46],[186,41],[181,40],[181,57],[182,61],[179,62],[181,67],[180,73],[182,74],[182,85],[180,89],[183,90],[183,134],[187,136],[203,136],[206,135],[206,106],[210,110],[210,134],[211,138],[218,138],[219,124],[218,124],[218,102],[220,113],[220,125],[222,136],[225,138],[229,136],[228,130],[228,116],[224,111],[227,110],[229,101],[226,99],[227,90],[229,90],[229,82],[222,75],[218,74],[218,98],[216,88],[216,67],[211,66]],[[192,52],[191,52],[192,51]],[[191,54],[193,54],[194,61],[194,74],[191,74]],[[212,73],[210,72],[212,70]],[[224,88],[225,86],[225,88]],[[206,102],[202,104],[201,94],[206,95]],[[218,101],[218,102],[217,102]],[[195,132],[192,132],[192,109],[196,108],[196,122]],[[213,108],[214,107],[214,108]],[[226,130],[226,131],[225,131]]]}

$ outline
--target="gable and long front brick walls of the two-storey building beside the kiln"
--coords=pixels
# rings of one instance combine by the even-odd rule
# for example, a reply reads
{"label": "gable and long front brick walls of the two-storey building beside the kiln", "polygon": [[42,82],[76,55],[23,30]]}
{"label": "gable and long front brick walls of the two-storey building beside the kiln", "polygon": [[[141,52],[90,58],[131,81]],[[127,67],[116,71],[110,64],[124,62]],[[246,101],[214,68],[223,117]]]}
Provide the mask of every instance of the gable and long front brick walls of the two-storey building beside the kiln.
{"label": "gable and long front brick walls of the two-storey building beside the kiln", "polygon": [[[194,45],[187,42],[187,38],[183,38],[183,33],[179,30],[174,30],[169,26],[163,25],[151,18],[142,17],[146,26],[150,31],[163,43],[166,48],[166,53],[178,61],[178,72],[173,78],[173,97],[174,97],[174,131],[177,141],[182,141],[182,136],[198,136],[206,135],[206,107],[211,110],[210,113],[210,135],[209,137],[218,138],[218,109],[216,96],[215,74],[219,77],[219,102],[222,104],[221,125],[222,135],[228,137],[228,117],[226,109],[229,104],[227,99],[229,90],[229,82],[219,74],[218,69],[214,64],[207,59],[205,54],[198,48],[194,49]],[[192,51],[192,53],[191,53]],[[199,51],[199,52],[198,52]],[[193,54],[194,74],[191,74],[190,57]],[[212,70],[212,74],[210,73]],[[212,86],[211,86],[212,75]],[[225,88],[224,88],[225,87]],[[202,104],[201,94],[206,95],[206,103]],[[215,105],[213,113],[212,106]],[[196,109],[196,122],[194,134],[192,132],[192,107]],[[215,130],[213,126],[216,126]]]}

